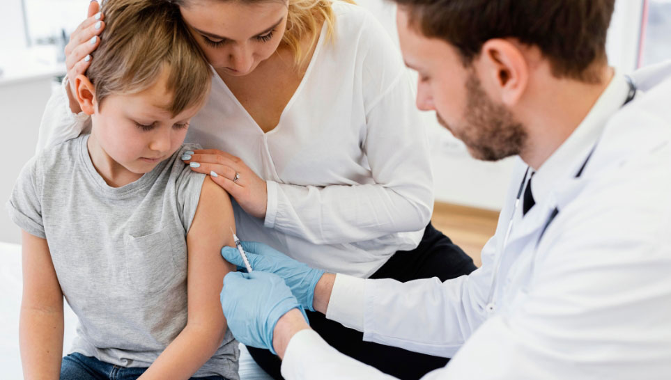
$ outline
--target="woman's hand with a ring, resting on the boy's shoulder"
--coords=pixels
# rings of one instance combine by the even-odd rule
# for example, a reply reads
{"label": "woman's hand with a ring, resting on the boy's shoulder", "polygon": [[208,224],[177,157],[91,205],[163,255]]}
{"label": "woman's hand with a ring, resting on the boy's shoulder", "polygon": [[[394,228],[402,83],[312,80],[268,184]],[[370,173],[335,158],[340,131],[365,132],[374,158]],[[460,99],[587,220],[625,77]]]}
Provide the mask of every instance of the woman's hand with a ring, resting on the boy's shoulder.
{"label": "woman's hand with a ring, resting on the boy's shoulder", "polygon": [[193,171],[209,174],[247,214],[265,218],[268,186],[242,159],[217,149],[194,150],[193,155],[185,155],[182,159]]}

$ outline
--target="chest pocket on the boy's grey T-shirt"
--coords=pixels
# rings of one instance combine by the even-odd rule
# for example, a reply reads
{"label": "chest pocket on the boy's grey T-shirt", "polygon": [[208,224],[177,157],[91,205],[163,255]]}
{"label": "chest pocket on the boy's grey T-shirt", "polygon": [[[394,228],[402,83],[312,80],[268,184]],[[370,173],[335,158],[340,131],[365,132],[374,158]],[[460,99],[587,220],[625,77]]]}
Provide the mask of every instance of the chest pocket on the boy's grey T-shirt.
{"label": "chest pocket on the boy's grey T-shirt", "polygon": [[149,235],[125,235],[126,274],[128,283],[139,293],[156,293],[176,280],[178,265],[169,228]]}

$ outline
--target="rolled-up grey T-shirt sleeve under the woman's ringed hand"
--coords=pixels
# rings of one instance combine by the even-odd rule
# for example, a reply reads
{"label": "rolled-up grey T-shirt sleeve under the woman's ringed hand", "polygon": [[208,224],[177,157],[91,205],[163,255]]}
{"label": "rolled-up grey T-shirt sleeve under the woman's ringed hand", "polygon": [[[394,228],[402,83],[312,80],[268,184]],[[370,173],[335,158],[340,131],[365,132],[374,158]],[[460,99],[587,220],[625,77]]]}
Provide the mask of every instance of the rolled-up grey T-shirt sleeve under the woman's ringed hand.
{"label": "rolled-up grey T-shirt sleeve under the woman's ringed hand", "polygon": [[[202,149],[200,145],[187,144],[184,145],[179,152],[178,157],[181,157],[187,150]],[[201,189],[203,188],[203,181],[205,175],[196,173],[191,170],[190,166],[185,165],[183,161],[177,159],[175,165],[180,168],[177,178],[177,205],[180,212],[180,219],[184,226],[185,233],[189,233],[191,223],[196,215],[198,208],[198,201],[201,198]]]}

